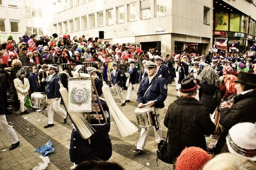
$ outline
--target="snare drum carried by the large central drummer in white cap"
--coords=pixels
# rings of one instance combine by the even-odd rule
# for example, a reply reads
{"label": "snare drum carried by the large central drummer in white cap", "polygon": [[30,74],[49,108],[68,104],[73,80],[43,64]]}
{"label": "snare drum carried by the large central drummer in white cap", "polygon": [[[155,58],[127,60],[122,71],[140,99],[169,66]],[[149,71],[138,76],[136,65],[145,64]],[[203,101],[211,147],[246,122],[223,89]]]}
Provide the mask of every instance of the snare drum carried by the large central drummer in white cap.
{"label": "snare drum carried by the large central drummer in white cap", "polygon": [[154,125],[151,119],[151,114],[155,114],[154,107],[144,106],[142,108],[137,107],[135,109],[135,116],[139,127],[147,128]]}

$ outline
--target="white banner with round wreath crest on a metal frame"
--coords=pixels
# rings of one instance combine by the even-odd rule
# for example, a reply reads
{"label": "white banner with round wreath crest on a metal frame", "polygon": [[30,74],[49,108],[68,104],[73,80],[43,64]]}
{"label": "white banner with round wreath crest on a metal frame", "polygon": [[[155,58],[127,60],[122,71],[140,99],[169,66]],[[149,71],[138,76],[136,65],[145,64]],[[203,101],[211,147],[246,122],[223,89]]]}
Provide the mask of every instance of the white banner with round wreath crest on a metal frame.
{"label": "white banner with round wreath crest on a metal frame", "polygon": [[68,81],[68,110],[91,112],[91,80]]}

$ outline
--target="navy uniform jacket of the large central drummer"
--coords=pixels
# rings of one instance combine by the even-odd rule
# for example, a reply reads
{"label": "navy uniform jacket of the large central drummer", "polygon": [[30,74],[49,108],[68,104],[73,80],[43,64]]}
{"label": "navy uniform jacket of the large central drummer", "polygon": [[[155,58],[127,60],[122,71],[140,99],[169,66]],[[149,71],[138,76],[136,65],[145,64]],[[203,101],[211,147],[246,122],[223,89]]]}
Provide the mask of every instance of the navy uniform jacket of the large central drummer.
{"label": "navy uniform jacket of the large central drummer", "polygon": [[[147,91],[147,88],[151,84],[152,84],[152,86]],[[161,78],[161,77],[157,78],[157,76],[155,76],[151,80],[150,84],[149,84],[148,77],[145,77],[141,80],[140,88],[137,93],[138,103],[145,104],[149,101],[157,100],[155,102],[154,107],[164,108],[164,101],[165,101],[166,97],[167,97],[167,86],[166,86],[166,80],[164,78]]]}

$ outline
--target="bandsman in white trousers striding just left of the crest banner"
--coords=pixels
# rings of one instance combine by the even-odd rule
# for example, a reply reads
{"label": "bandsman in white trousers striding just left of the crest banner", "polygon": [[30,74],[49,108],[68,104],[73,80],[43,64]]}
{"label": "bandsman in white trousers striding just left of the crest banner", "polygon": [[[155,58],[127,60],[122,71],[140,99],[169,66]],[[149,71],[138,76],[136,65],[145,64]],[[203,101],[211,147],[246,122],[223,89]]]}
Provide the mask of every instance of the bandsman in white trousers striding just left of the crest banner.
{"label": "bandsman in white trousers striding just left of the crest banner", "polygon": [[[48,113],[48,124],[45,128],[54,126],[53,115],[54,112],[60,114],[64,118],[64,123],[66,123],[67,113],[60,107],[61,104],[61,94],[60,94],[60,78],[58,77],[56,70],[57,67],[53,65],[48,65],[48,72],[50,76],[46,78],[46,93],[48,103],[47,113]],[[43,80],[45,81],[45,80]]]}

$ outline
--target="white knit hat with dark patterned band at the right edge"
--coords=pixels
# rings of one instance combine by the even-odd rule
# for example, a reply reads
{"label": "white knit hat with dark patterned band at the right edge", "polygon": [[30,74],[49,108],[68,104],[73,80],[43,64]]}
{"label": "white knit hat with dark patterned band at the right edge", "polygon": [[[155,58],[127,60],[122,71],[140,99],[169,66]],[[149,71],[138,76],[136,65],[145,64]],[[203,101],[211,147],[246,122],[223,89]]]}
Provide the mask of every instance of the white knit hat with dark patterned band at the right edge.
{"label": "white knit hat with dark patterned band at the right edge", "polygon": [[226,138],[230,153],[256,161],[256,123],[238,123]]}

